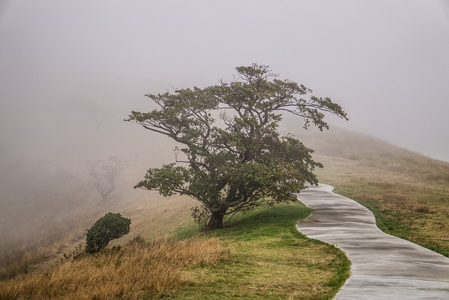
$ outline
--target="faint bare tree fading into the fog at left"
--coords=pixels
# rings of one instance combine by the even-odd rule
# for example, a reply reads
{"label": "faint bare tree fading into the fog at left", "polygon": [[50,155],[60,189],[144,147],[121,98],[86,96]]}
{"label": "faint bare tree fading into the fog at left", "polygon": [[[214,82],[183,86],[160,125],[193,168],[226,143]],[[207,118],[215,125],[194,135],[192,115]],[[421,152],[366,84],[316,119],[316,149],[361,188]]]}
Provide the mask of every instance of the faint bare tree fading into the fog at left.
{"label": "faint bare tree fading into the fog at left", "polygon": [[101,194],[102,200],[106,200],[116,188],[116,179],[125,169],[126,162],[114,156],[107,160],[89,161],[87,164],[93,187]]}

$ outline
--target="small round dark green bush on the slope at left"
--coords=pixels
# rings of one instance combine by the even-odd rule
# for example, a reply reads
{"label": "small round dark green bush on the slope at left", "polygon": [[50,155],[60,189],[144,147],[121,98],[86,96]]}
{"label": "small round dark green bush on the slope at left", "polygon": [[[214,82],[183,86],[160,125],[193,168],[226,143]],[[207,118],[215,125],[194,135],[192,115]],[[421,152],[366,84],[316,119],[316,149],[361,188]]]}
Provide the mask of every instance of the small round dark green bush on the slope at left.
{"label": "small round dark green bush on the slope at left", "polygon": [[107,213],[87,230],[86,252],[96,253],[105,248],[111,240],[129,233],[131,220],[120,214]]}

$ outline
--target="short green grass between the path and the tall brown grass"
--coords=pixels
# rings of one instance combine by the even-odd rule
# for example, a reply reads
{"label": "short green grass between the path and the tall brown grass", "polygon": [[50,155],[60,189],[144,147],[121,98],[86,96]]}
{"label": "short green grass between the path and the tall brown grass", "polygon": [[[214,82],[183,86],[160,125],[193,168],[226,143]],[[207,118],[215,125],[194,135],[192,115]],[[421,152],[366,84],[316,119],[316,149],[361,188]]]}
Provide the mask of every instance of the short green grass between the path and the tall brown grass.
{"label": "short green grass between the path and the tall brown grass", "polygon": [[[190,279],[165,298],[331,299],[349,277],[350,263],[339,249],[298,233],[297,220],[310,213],[295,203],[235,216],[205,234],[230,247],[230,259],[186,270]],[[185,228],[178,235],[195,232]]]}

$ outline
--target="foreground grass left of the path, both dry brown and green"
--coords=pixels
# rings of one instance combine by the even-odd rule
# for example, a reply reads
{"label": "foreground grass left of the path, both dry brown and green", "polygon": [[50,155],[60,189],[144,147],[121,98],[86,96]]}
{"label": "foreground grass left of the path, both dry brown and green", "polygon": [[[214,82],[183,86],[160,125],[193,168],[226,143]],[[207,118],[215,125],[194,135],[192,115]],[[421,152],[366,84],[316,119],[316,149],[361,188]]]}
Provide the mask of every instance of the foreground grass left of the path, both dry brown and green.
{"label": "foreground grass left of the path, both dry brown and green", "polygon": [[301,203],[284,204],[207,235],[187,226],[174,240],[123,237],[100,254],[0,281],[0,299],[330,299],[349,261],[297,232],[309,214]]}

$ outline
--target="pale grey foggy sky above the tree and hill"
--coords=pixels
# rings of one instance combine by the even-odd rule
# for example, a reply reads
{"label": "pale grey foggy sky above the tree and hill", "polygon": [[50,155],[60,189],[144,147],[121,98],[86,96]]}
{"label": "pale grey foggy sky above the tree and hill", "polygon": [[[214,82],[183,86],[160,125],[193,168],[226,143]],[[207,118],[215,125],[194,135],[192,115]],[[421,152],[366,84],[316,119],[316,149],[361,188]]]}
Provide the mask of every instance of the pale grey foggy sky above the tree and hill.
{"label": "pale grey foggy sky above the tree and hill", "polygon": [[340,103],[333,124],[449,162],[443,0],[0,0],[0,155],[82,135],[101,116],[73,112],[95,105],[126,127],[145,93],[251,63]]}

